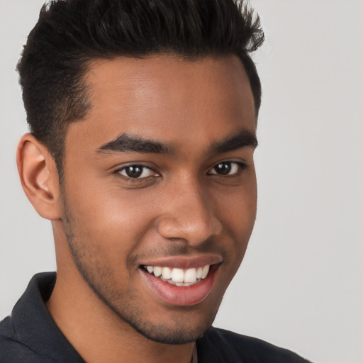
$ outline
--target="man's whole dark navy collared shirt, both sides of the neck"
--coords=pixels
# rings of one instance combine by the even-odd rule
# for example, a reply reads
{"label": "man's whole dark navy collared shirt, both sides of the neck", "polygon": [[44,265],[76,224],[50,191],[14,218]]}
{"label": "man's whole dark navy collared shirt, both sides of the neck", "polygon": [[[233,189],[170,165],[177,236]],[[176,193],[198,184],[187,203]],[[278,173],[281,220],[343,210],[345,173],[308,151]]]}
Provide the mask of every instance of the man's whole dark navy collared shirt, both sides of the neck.
{"label": "man's whole dark navy collared shirt, both sides of the neck", "polygon": [[[56,274],[36,274],[0,323],[0,363],[84,363],[57,328],[45,301]],[[307,363],[298,355],[253,337],[210,328],[196,340],[198,363]]]}

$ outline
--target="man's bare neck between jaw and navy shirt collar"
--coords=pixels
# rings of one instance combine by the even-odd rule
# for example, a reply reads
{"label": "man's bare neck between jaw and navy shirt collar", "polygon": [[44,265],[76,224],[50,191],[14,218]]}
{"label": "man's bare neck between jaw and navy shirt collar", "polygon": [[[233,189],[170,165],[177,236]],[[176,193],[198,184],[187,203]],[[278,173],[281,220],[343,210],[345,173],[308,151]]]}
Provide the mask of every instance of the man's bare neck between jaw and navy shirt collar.
{"label": "man's bare neck between jaw and navy shirt collar", "polygon": [[[67,267],[66,271],[58,267],[57,282],[46,305],[58,328],[87,363],[191,362],[194,342],[166,345],[147,339],[108,308],[77,269]],[[66,278],[68,274],[72,279]]]}

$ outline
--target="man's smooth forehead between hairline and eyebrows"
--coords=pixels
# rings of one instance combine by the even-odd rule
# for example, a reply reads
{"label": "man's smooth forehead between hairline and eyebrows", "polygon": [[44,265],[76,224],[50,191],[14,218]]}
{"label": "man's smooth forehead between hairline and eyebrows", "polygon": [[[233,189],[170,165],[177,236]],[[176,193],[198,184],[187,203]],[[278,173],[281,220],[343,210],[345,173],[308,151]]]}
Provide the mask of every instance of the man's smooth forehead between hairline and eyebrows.
{"label": "man's smooth forehead between hairline and eyebrows", "polygon": [[79,145],[99,147],[130,133],[172,145],[188,139],[190,147],[240,129],[255,132],[250,83],[235,56],[95,60],[86,85],[91,108],[68,132]]}

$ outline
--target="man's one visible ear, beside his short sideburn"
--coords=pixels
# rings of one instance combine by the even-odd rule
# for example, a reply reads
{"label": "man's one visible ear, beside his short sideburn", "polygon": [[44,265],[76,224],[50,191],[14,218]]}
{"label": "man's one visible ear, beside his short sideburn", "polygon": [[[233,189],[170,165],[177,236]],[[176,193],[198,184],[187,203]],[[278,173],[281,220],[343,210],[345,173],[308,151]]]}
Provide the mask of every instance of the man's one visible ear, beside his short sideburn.
{"label": "man's one visible ear, beside his short sideburn", "polygon": [[43,218],[61,217],[57,167],[47,147],[33,135],[23,135],[16,152],[21,185],[30,203]]}

